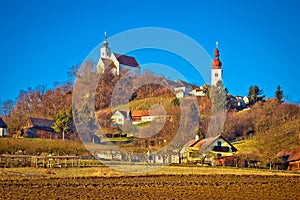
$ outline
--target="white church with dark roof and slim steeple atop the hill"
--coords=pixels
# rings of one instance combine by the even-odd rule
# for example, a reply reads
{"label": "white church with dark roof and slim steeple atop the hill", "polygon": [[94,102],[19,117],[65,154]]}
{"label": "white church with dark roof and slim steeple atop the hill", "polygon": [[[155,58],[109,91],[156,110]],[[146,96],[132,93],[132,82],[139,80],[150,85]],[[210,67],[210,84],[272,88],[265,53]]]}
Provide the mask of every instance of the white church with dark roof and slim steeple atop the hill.
{"label": "white church with dark roof and slim steeple atop the hill", "polygon": [[132,56],[111,53],[105,32],[96,70],[97,73],[103,73],[107,69],[110,69],[116,75],[120,75],[120,72],[124,69],[133,70],[135,73],[140,74],[141,67]]}

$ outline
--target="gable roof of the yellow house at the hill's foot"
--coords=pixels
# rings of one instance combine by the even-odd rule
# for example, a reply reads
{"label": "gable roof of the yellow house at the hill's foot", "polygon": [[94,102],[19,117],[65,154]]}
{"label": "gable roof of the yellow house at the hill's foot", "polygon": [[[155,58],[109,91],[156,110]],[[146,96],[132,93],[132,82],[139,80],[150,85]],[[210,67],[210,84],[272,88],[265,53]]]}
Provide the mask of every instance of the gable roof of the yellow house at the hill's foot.
{"label": "gable roof of the yellow house at the hill's foot", "polygon": [[206,149],[209,145],[211,145],[212,143],[214,143],[217,139],[222,138],[225,142],[227,142],[231,148],[232,151],[237,151],[237,149],[230,143],[228,142],[221,134],[218,134],[216,136],[213,137],[208,137],[202,140],[191,140],[189,141],[187,144],[185,144],[186,147],[196,147],[196,148],[200,148],[200,149]]}

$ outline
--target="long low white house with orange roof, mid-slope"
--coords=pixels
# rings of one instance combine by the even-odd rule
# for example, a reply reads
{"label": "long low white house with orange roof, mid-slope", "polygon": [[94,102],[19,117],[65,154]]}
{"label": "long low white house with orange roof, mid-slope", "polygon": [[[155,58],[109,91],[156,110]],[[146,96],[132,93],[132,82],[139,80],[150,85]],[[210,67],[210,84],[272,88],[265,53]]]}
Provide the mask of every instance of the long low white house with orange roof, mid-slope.
{"label": "long low white house with orange roof, mid-slope", "polygon": [[132,124],[140,124],[143,122],[152,122],[154,119],[164,121],[165,115],[159,110],[135,110],[131,114]]}

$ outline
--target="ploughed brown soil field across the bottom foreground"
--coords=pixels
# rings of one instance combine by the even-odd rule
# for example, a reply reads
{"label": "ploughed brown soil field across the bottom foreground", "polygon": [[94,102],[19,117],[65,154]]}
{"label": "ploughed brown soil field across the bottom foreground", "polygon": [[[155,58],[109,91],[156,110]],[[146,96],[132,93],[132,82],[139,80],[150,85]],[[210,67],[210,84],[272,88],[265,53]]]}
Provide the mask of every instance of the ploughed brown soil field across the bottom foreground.
{"label": "ploughed brown soil field across the bottom foreground", "polygon": [[300,199],[300,176],[151,175],[3,179],[0,199]]}

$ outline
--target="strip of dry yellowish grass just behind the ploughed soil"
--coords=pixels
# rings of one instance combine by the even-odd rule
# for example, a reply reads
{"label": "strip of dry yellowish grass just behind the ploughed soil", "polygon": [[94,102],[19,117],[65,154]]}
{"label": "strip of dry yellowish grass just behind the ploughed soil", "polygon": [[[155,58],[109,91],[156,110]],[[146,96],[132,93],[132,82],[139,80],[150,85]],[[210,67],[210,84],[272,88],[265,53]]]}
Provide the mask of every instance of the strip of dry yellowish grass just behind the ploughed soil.
{"label": "strip of dry yellowish grass just behind the ploughed soil", "polygon": [[[45,168],[2,168],[0,178],[9,177],[109,177],[109,176],[140,176],[140,175],[259,175],[259,176],[300,176],[300,173],[290,171],[277,171],[267,169],[232,168],[232,167],[198,167],[198,166],[165,166],[152,168],[151,166],[136,165],[134,167],[126,165],[115,165],[114,168],[99,166],[86,168],[53,168],[47,173]],[[127,167],[127,169],[126,169]],[[122,169],[131,172],[124,172]],[[158,169],[158,170],[154,170]],[[154,170],[154,171],[153,171]],[[136,173],[135,173],[135,172]]]}

